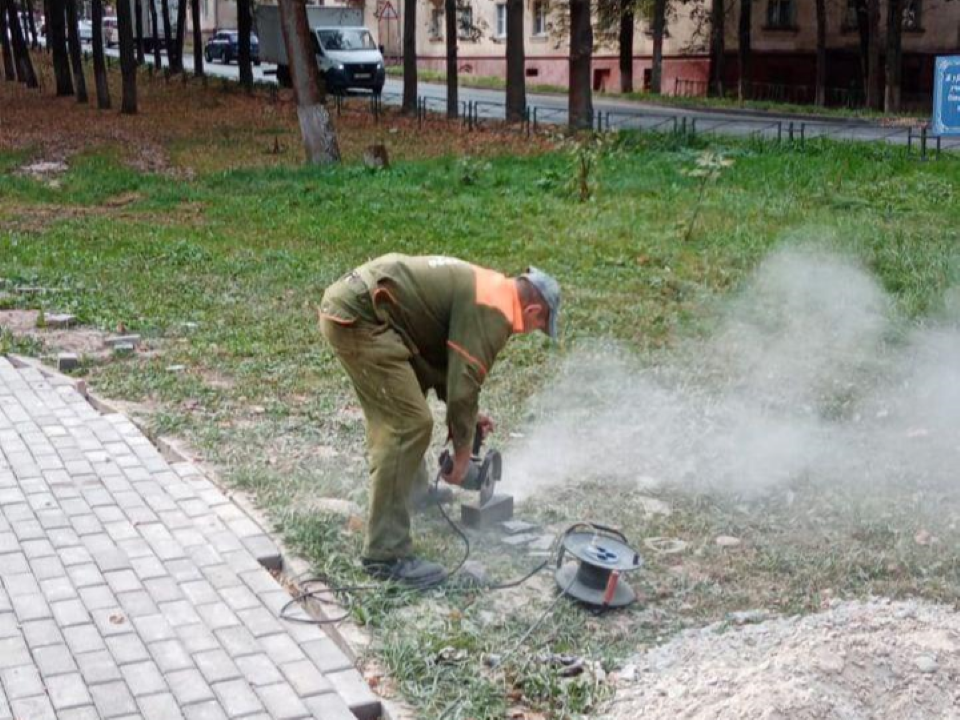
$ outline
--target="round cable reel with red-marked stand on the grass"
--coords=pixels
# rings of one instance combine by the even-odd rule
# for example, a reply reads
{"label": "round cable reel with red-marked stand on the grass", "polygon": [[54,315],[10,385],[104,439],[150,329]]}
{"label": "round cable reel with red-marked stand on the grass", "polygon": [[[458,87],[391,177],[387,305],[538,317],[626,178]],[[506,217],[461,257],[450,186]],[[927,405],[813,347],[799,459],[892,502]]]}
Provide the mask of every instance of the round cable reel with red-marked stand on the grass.
{"label": "round cable reel with red-marked stand on the grass", "polygon": [[[579,562],[564,563],[569,553]],[[619,608],[637,599],[622,574],[637,570],[643,558],[619,530],[595,523],[578,523],[563,535],[554,577],[561,592],[587,605]]]}

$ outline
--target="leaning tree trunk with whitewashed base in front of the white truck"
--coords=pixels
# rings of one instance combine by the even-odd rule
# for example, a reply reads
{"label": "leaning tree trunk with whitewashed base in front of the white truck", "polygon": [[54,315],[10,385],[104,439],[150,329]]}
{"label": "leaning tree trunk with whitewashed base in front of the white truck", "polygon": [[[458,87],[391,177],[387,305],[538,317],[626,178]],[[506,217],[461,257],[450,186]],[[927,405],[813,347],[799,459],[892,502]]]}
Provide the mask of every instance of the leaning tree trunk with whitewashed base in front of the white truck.
{"label": "leaning tree trunk with whitewashed base in front of the white truck", "polygon": [[340,162],[337,133],[324,106],[317,58],[310,43],[307,6],[303,0],[280,0],[280,26],[290,62],[290,79],[297,99],[297,117],[307,162]]}

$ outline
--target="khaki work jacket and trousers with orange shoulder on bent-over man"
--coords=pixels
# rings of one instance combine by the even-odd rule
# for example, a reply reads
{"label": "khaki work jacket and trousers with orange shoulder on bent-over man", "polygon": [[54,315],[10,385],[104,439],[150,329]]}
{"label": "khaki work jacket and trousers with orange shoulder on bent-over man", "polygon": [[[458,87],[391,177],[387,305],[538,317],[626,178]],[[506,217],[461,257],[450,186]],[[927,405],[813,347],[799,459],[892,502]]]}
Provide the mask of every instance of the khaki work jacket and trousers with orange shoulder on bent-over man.
{"label": "khaki work jacket and trousers with orange shoulder on bent-over man", "polygon": [[433,388],[446,402],[454,448],[471,445],[480,387],[510,335],[523,330],[516,283],[455,258],[385,255],[327,288],[320,327],[367,421],[364,557],[407,557],[410,498],[428,481],[426,393]]}

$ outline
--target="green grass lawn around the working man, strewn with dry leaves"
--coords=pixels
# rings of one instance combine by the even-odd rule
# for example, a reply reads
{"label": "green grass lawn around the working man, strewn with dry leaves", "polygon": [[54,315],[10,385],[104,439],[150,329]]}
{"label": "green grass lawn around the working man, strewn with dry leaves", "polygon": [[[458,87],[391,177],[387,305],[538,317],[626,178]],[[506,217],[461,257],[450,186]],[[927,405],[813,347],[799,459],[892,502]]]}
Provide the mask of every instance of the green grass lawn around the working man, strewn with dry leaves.
{"label": "green grass lawn around the working man, strewn with dry leaves", "polygon": [[[702,178],[692,171],[705,141],[624,135],[597,158],[581,202],[577,163],[563,147],[542,143],[533,149],[543,152],[520,156],[494,133],[460,136],[437,124],[418,134],[399,119],[374,128],[357,115],[340,125],[353,148],[346,164],[300,167],[289,104],[268,117],[263,98],[176,88],[156,90],[158,108],[174,97],[165,93],[184,92],[179,102],[217,123],[192,133],[160,124],[145,136],[161,158],[150,167],[131,158],[129,138],[81,134],[69,169],[51,180],[17,172],[50,152],[36,128],[58,113],[75,127],[88,113],[95,127],[94,111],[50,97],[26,105],[0,86],[0,105],[21,103],[14,136],[28,138],[0,145],[0,307],[41,306],[141,333],[147,351],[85,364],[91,386],[143,403],[157,432],[188,439],[228,482],[254,492],[286,539],[339,582],[360,577],[361,538],[318,499],[365,503],[363,425],[315,307],[331,281],[369,257],[450,254],[506,272],[536,264],[558,277],[560,347],[512,341],[484,391],[502,446],[525,431],[528,400],[564,357],[613,340],[655,366],[684,339],[709,334],[718,301],[798,238],[827,238],[856,257],[908,324],[942,313],[958,280],[952,159],[920,163],[881,145],[808,142],[801,151],[730,141],[711,148],[733,164],[703,185],[698,210]],[[129,131],[112,117],[117,133]],[[241,124],[251,117],[261,120]],[[149,113],[137,122],[158,125]],[[267,152],[273,137],[289,148],[279,157]],[[382,172],[358,164],[371,138],[401,160]],[[45,291],[19,293],[25,286]],[[48,351],[2,338],[3,350]],[[598,617],[560,603],[498,668],[483,657],[507,653],[550,605],[546,576],[509,593],[364,595],[352,613],[373,636],[368,660],[381,691],[424,718],[570,717],[609,694],[601,670],[730,611],[807,612],[828,597],[870,593],[960,599],[960,565],[943,554],[960,540],[946,498],[918,515],[908,487],[896,502],[851,504],[840,490],[798,483],[789,507],[665,487],[651,491],[673,507],[663,516],[647,513],[636,493],[588,480],[549,502],[529,500],[520,514],[551,528],[601,519],[638,547],[668,536],[696,552],[648,557],[637,583],[643,602],[625,612]],[[939,546],[912,542],[921,523]],[[425,552],[459,557],[438,516],[415,525]],[[718,547],[721,534],[745,547]],[[483,542],[476,557],[498,579],[531,563]],[[562,677],[544,660],[555,653],[586,658],[587,671]]]}

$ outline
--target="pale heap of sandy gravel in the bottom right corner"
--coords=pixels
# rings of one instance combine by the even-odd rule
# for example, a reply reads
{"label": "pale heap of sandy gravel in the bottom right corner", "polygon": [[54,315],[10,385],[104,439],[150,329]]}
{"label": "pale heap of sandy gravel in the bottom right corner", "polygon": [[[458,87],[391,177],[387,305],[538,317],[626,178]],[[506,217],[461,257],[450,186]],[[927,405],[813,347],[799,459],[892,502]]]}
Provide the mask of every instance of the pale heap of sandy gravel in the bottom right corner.
{"label": "pale heap of sandy gravel in the bottom right corner", "polygon": [[958,650],[960,614],[920,602],[718,623],[635,658],[603,720],[960,718]]}

